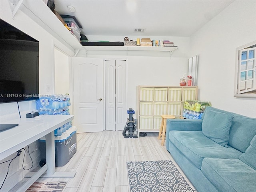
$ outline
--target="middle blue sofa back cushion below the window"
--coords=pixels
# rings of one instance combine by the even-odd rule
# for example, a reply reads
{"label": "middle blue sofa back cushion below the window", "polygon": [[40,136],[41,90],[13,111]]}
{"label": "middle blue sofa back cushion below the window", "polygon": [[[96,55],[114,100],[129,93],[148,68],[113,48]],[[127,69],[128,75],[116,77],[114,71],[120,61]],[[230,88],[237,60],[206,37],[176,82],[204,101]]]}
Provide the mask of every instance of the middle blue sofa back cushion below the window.
{"label": "middle blue sofa back cushion below the window", "polygon": [[228,145],[244,153],[254,135],[256,135],[256,118],[234,114]]}

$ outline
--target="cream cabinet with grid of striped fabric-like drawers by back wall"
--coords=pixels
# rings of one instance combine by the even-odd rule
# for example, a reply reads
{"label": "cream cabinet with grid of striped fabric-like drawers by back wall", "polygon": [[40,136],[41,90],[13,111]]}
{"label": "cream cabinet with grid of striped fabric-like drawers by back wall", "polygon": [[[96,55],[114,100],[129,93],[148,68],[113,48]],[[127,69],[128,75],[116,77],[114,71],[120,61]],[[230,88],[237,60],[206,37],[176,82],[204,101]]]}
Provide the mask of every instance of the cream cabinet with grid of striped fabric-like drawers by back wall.
{"label": "cream cabinet with grid of striped fabric-like drawers by back wall", "polygon": [[186,100],[197,100],[197,86],[137,86],[137,128],[159,132],[161,115],[180,118]]}

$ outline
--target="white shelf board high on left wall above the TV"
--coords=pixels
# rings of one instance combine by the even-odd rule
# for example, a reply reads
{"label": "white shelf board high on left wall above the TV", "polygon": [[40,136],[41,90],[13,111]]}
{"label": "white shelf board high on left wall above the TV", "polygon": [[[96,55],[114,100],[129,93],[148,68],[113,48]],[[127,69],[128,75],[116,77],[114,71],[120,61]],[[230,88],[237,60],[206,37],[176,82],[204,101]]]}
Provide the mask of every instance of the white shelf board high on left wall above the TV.
{"label": "white shelf board high on left wall above the TV", "polygon": [[[42,0],[23,0],[20,6],[25,14],[46,29],[52,36],[74,49],[83,49],[82,44],[68,31],[57,16]],[[16,14],[15,17],[18,15]]]}

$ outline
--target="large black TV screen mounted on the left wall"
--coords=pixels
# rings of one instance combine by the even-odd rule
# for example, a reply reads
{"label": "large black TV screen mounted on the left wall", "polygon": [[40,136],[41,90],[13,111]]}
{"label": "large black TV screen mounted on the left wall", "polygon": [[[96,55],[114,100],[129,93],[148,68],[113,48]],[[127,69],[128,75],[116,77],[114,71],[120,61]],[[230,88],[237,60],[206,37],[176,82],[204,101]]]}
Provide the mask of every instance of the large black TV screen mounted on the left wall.
{"label": "large black TV screen mounted on the left wall", "polygon": [[0,21],[0,102],[38,99],[39,41]]}

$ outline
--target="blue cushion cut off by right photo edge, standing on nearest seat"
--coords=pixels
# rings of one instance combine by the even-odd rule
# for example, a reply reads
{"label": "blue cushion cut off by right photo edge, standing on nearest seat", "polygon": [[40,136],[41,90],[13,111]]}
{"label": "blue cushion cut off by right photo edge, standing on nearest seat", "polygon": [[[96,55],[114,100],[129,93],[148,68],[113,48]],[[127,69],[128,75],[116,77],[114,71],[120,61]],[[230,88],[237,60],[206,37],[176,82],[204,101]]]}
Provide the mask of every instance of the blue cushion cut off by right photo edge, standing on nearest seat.
{"label": "blue cushion cut off by right photo edge, standing on nearest seat", "polygon": [[256,135],[250,142],[250,146],[246,149],[245,153],[239,156],[239,159],[256,169]]}

